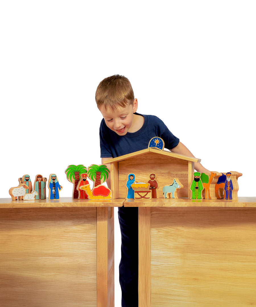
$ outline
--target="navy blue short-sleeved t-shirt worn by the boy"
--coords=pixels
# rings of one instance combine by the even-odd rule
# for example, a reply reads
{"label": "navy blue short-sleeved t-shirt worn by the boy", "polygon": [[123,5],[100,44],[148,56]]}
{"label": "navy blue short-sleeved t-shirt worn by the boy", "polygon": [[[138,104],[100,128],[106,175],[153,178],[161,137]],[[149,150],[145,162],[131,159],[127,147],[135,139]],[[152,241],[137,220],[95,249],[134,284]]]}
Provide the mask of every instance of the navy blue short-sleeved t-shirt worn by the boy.
{"label": "navy blue short-sleeved t-shirt worn by the boy", "polygon": [[[136,115],[141,115],[135,113]],[[162,138],[164,147],[171,150],[179,144],[167,126],[154,115],[141,115],[144,117],[144,124],[136,132],[127,132],[125,135],[118,135],[106,126],[104,119],[100,123],[100,157],[115,158],[128,153],[148,148],[149,141],[154,137]]]}

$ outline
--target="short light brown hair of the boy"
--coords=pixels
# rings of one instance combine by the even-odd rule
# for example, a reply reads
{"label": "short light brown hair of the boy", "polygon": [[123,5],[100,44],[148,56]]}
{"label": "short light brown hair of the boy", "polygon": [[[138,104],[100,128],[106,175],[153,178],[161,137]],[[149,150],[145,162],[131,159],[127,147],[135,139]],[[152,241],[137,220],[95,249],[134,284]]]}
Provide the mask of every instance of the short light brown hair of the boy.
{"label": "short light brown hair of the boy", "polygon": [[134,93],[130,81],[125,76],[114,75],[103,79],[96,89],[97,107],[110,108],[115,111],[119,107],[133,104]]}

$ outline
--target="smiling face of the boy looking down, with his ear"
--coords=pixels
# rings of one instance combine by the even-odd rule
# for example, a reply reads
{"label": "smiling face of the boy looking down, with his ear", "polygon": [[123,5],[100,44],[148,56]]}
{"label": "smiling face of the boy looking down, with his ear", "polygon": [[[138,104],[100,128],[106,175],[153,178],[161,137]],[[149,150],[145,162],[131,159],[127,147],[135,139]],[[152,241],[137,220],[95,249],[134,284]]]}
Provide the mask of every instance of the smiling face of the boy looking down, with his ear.
{"label": "smiling face of the boy looking down, with his ear", "polygon": [[100,108],[105,123],[109,129],[115,131],[118,135],[125,135],[133,124],[133,113],[137,111],[138,102],[134,99],[133,105],[128,104],[126,107],[120,107],[116,111]]}

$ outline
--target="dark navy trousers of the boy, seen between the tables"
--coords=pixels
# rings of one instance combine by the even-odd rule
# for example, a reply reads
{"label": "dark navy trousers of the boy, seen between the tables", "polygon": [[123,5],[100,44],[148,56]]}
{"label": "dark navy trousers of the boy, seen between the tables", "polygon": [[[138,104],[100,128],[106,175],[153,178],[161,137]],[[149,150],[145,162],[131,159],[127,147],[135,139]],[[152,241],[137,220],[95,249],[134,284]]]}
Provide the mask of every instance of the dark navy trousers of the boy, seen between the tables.
{"label": "dark navy trousers of the boy, seen between the tables", "polygon": [[121,230],[119,282],[122,307],[138,307],[138,208],[118,208]]}

